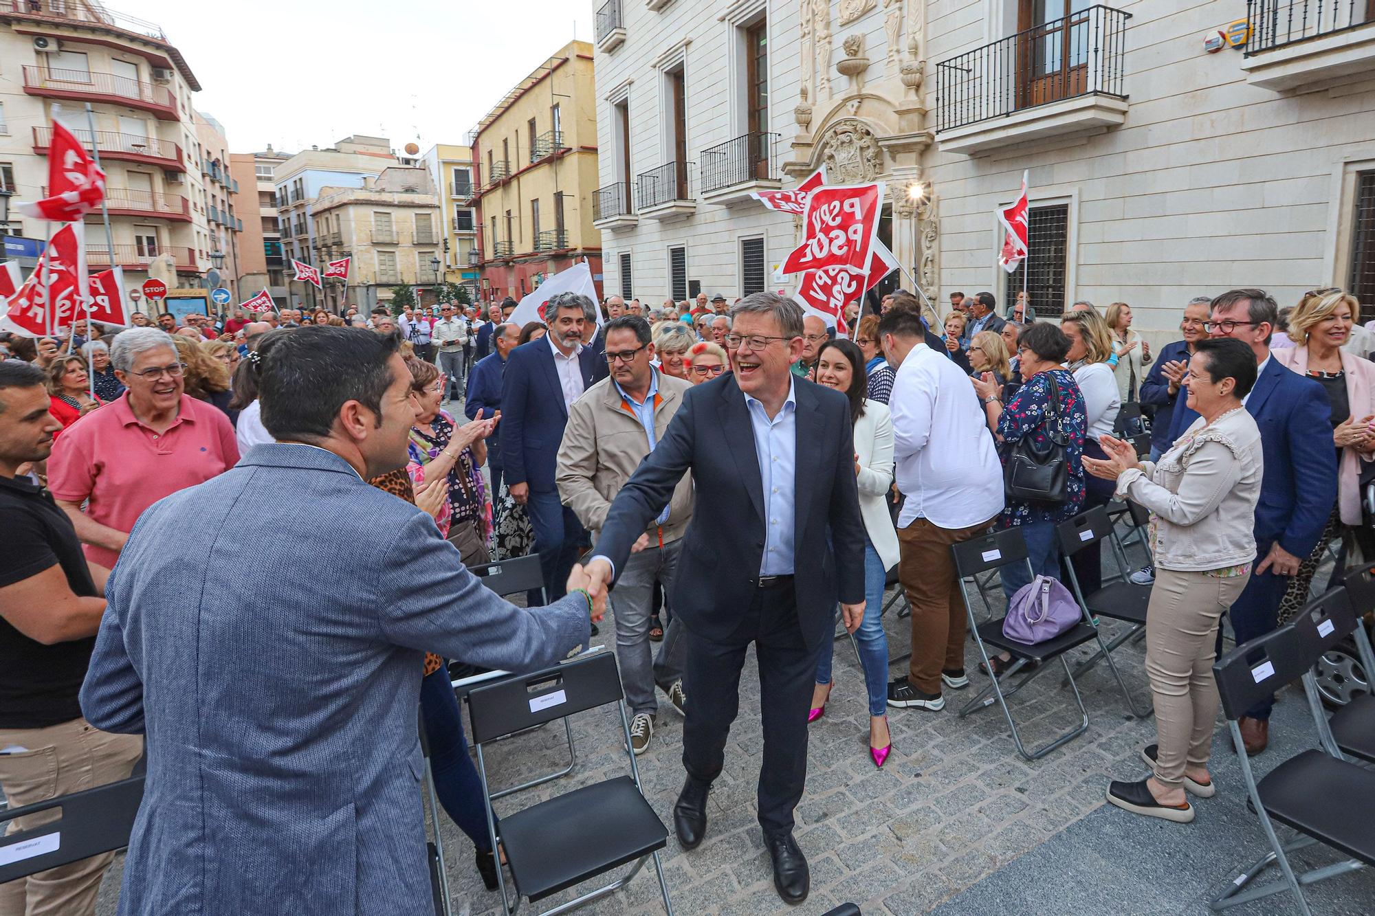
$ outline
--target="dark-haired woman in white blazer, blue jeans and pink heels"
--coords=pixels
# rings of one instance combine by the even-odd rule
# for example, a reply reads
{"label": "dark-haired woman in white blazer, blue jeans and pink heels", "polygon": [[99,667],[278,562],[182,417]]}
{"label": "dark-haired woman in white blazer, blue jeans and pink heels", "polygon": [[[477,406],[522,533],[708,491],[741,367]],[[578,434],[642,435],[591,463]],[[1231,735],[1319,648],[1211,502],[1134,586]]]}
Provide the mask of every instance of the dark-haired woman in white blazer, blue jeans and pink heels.
{"label": "dark-haired woman in white blazer, blue jeans and pink heels", "polygon": [[[848,340],[832,340],[817,353],[817,382],[835,388],[850,399],[854,418],[855,483],[859,487],[859,514],[868,539],[865,542],[864,620],[854,631],[864,664],[869,693],[869,759],[881,767],[888,759],[892,740],[888,737],[888,637],[883,631],[883,589],[887,571],[898,564],[898,534],[888,514],[886,497],[892,486],[892,419],[888,408],[865,397],[868,378],[864,353]],[[817,662],[817,688],[811,697],[808,722],[826,712],[830,699],[832,641],[826,641]]]}

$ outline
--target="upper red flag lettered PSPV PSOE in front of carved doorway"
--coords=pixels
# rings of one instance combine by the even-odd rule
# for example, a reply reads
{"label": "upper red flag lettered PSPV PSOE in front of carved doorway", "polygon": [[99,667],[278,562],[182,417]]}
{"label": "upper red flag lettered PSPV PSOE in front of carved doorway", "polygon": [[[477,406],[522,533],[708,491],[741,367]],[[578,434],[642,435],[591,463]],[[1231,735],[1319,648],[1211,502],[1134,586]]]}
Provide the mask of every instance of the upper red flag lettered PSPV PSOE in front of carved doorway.
{"label": "upper red flag lettered PSPV PSOE in front of carved doorway", "polygon": [[881,209],[881,182],[817,188],[807,195],[802,245],[784,259],[782,272],[839,267],[868,275]]}

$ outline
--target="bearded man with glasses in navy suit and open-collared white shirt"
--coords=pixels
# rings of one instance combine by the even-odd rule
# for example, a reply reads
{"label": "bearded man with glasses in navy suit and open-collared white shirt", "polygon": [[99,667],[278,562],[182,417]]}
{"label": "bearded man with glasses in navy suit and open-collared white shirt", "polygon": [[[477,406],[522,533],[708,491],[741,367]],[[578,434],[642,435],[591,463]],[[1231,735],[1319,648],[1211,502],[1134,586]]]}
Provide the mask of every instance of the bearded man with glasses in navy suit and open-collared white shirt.
{"label": "bearded man with glasses in navy suit and open-collared white shirt", "polygon": [[[502,375],[498,433],[503,472],[512,497],[529,513],[550,601],[564,596],[564,583],[578,560],[578,542],[583,536],[578,516],[558,499],[554,466],[568,406],[595,380],[595,356],[582,344],[583,309],[588,305],[591,300],[578,293],[558,293],[550,298],[544,305],[549,333],[513,349]],[[539,591],[527,597],[534,604],[540,602]]]}

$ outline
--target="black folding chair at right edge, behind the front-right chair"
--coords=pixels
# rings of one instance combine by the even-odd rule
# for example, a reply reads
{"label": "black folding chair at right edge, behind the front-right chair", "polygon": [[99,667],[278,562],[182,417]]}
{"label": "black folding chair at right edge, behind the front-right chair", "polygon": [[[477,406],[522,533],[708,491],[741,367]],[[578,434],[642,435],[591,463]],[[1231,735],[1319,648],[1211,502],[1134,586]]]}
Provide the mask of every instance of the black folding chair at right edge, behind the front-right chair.
{"label": "black folding chair at right edge, behind the front-right chair", "polygon": [[[1365,571],[1352,575],[1364,576]],[[1370,637],[1365,635],[1364,623],[1356,616],[1350,597],[1350,589],[1339,587],[1310,601],[1294,616],[1294,630],[1304,641],[1305,652],[1314,659],[1323,657],[1348,637],[1354,637],[1361,660],[1371,667]],[[1365,693],[1354,697],[1328,719],[1314,671],[1316,666],[1304,674],[1304,693],[1308,696],[1323,747],[1332,756],[1375,763],[1375,696]]]}

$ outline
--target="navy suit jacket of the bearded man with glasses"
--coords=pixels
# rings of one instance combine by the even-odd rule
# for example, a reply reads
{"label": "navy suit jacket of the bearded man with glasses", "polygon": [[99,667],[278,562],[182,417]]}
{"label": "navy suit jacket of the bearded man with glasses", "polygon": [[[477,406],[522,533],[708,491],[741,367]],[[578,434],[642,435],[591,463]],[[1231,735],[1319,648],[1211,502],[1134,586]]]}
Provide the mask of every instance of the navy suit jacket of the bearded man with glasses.
{"label": "navy suit jacket of the bearded man with glasses", "polygon": [[[558,384],[550,347],[540,337],[521,344],[506,358],[502,422],[496,425],[502,437],[500,455],[506,480],[512,484],[527,483],[535,492],[558,492],[554,466],[558,462],[558,446],[564,440],[564,425],[568,424],[564,388]],[[583,391],[597,381],[595,360],[590,347],[583,347],[578,355]],[[606,360],[601,362],[605,367]]]}

